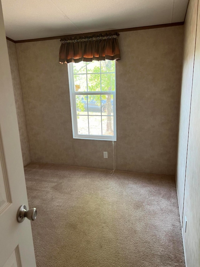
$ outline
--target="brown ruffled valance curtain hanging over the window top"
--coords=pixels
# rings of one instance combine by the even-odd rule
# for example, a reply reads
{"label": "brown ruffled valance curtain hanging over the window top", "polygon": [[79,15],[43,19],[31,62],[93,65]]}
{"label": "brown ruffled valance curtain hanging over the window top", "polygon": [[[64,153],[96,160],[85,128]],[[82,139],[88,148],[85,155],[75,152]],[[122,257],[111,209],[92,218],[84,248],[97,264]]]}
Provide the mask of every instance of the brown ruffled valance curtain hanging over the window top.
{"label": "brown ruffled valance curtain hanging over the window top", "polygon": [[93,60],[119,60],[121,59],[119,33],[106,33],[92,36],[80,36],[61,39],[59,62],[78,63]]}

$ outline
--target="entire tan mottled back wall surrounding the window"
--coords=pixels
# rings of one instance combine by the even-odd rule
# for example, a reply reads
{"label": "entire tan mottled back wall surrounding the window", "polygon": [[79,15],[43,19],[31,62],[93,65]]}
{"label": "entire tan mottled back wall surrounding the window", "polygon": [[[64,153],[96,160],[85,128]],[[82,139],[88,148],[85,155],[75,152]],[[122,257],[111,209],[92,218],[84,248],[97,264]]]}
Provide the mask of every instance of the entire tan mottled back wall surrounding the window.
{"label": "entire tan mottled back wall surrounding the window", "polygon": [[[120,33],[119,43],[117,169],[174,174],[183,26]],[[16,44],[32,162],[112,169],[112,141],[73,139],[59,47],[59,40]]]}

